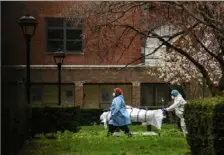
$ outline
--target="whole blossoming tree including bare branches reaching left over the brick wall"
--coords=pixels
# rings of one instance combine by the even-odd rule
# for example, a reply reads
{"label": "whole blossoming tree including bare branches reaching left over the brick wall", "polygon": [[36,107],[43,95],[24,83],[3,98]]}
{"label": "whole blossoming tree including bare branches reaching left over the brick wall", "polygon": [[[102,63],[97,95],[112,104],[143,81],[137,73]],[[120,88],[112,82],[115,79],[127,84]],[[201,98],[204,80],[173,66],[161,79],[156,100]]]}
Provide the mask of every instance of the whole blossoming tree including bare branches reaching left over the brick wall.
{"label": "whole blossoming tree including bare branches reaching left over the brick wall", "polygon": [[[213,95],[224,90],[223,2],[76,2],[63,14],[68,20],[85,20],[85,47],[97,48],[95,54],[107,61],[118,50],[121,58],[128,49],[138,48],[133,42],[140,37],[143,46],[147,38],[157,38],[160,44],[150,54],[167,47],[157,70],[161,78],[173,84],[205,80]],[[164,24],[177,31],[155,33]]]}

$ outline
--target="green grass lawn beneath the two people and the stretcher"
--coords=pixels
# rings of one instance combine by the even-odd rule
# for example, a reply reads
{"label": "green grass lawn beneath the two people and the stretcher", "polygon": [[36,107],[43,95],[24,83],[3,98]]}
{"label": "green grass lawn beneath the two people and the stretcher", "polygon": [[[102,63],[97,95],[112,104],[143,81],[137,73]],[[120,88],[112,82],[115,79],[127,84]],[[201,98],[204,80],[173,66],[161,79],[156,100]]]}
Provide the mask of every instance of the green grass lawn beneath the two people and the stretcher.
{"label": "green grass lawn beneath the two people and the stretcher", "polygon": [[[130,126],[145,132],[146,126]],[[154,132],[158,130],[153,128]],[[189,146],[177,125],[164,124],[160,136],[106,137],[100,126],[82,126],[78,133],[57,133],[55,140],[41,136],[26,145],[19,155],[187,155]]]}

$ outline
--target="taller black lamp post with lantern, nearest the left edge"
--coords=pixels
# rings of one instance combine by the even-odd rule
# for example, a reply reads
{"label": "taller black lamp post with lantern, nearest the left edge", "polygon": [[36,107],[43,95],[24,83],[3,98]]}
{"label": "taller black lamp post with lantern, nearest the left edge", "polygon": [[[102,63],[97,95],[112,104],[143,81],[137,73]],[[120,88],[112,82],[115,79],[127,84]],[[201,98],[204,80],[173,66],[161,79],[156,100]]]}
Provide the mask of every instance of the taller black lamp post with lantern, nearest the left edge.
{"label": "taller black lamp post with lantern, nearest the left edge", "polygon": [[33,16],[26,14],[20,18],[19,25],[26,40],[26,94],[27,103],[30,104],[30,41],[35,34],[37,20]]}

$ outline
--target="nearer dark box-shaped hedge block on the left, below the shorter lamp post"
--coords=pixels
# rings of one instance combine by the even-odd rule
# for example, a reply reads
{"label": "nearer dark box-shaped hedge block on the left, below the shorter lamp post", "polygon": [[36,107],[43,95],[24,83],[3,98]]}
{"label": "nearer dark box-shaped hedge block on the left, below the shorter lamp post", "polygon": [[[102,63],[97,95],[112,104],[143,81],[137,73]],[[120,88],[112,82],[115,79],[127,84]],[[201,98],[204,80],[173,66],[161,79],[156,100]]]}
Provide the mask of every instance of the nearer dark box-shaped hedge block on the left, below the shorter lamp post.
{"label": "nearer dark box-shaped hedge block on the left, below the shorter lamp post", "polygon": [[31,134],[79,130],[80,107],[33,107]]}

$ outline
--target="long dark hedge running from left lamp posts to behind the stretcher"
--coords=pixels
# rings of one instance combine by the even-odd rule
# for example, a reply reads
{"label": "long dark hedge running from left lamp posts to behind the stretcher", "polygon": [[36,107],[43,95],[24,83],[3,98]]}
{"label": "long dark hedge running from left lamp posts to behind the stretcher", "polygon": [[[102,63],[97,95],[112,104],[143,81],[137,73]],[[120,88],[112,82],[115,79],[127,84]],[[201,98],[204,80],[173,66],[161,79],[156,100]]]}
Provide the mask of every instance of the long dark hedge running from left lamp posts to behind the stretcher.
{"label": "long dark hedge running from left lamp posts to behind the stretcher", "polygon": [[[143,109],[143,107],[140,107]],[[161,107],[147,107],[149,110],[161,109]],[[103,109],[80,109],[79,107],[43,107],[32,108],[31,135],[38,133],[52,133],[56,131],[69,130],[77,132],[79,126],[101,124],[100,115]],[[175,116],[167,114],[165,122],[173,122]],[[133,125],[141,123],[133,123]]]}

